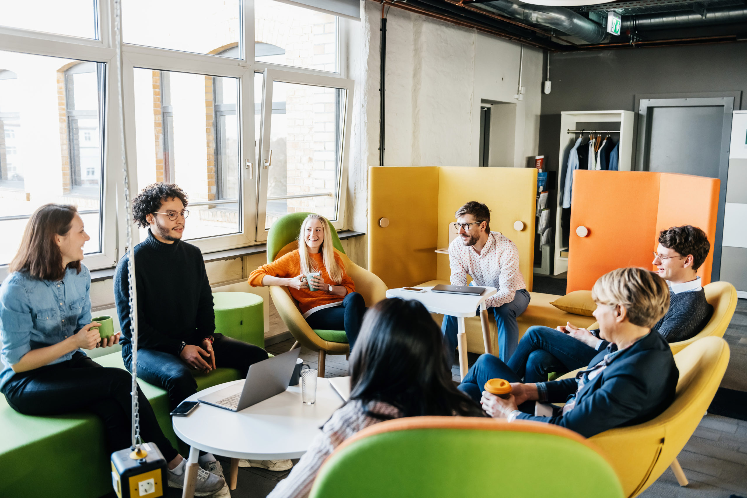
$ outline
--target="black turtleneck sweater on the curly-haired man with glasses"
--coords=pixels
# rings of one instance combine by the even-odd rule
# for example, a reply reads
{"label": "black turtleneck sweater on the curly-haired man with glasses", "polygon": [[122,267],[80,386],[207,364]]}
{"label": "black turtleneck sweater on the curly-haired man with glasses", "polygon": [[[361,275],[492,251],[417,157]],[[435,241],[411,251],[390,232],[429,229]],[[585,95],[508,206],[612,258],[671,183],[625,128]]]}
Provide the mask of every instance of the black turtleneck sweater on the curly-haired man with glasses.
{"label": "black turtleneck sweater on the curly-haired man with glasses", "polygon": [[[114,299],[123,337],[122,355],[131,354],[128,254],[117,264]],[[190,243],[148,238],[135,246],[138,348],[179,355],[182,341],[197,346],[215,331],[213,293],[202,253]]]}

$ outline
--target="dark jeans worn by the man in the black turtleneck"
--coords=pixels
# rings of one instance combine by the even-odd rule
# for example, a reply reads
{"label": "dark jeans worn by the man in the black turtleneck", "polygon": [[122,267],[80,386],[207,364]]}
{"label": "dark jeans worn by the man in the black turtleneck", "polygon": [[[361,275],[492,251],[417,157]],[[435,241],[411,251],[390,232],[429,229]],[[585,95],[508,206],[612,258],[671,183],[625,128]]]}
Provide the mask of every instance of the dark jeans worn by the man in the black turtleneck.
{"label": "dark jeans worn by the man in the black turtleneck", "polygon": [[[259,346],[223,334],[213,334],[213,337],[217,368],[235,368],[239,371],[239,376],[244,378],[249,365],[267,359],[267,352]],[[125,367],[132,370],[131,349],[123,350],[123,353]],[[137,377],[167,390],[172,410],[197,392],[197,381],[192,372],[192,368],[179,356],[155,349],[137,349]]]}

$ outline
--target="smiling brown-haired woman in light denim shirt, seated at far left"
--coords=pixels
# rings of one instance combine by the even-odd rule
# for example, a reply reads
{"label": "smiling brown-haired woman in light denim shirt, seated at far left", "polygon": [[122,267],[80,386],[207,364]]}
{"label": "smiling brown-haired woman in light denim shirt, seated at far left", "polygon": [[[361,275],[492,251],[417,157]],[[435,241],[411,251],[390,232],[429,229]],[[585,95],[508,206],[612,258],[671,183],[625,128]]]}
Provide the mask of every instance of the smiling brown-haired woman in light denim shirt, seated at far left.
{"label": "smiling brown-haired woman in light denim shirt, seated at far left", "polygon": [[[74,206],[43,205],[28,220],[11,273],[0,287],[0,392],[22,414],[93,411],[104,422],[114,452],[131,443],[131,376],[100,366],[81,350],[120,340],[120,334],[107,340],[91,330],[99,323],[90,321],[91,279],[81,265],[89,239]],[[158,445],[169,462],[169,485],[181,488],[182,456],[161,432],[140,388],[138,393],[143,440]],[[197,491],[220,488],[223,479],[199,471]]]}

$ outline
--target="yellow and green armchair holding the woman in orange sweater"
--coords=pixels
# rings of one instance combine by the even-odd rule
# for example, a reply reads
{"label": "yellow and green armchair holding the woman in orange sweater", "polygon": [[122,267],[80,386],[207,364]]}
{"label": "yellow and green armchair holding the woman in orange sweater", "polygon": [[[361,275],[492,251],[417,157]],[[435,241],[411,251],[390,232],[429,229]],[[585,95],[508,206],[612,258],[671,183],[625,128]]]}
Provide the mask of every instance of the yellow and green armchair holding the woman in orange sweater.
{"label": "yellow and green armchair holding the woman in orange sweater", "polygon": [[[309,213],[288,214],[273,224],[270,232],[267,234],[268,262],[275,261],[282,255],[298,248],[298,233],[301,229],[301,223],[307,215]],[[350,261],[350,258],[347,257],[342,248],[337,232],[332,228],[331,224],[330,229],[332,231],[332,245],[335,247],[335,252],[342,258],[345,271],[350,278],[353,278],[356,284],[356,292],[363,296],[366,306],[370,308],[376,302],[385,299],[387,287],[381,278]],[[291,297],[291,293],[288,292],[288,287],[271,285],[270,297],[272,297],[273,304],[283,323],[285,323],[288,331],[296,339],[294,348],[305,346],[312,351],[319,352],[318,375],[320,377],[324,376],[324,364],[327,354],[347,355],[350,352],[344,331],[314,331],[314,329],[311,329],[303,318],[297,302]]]}

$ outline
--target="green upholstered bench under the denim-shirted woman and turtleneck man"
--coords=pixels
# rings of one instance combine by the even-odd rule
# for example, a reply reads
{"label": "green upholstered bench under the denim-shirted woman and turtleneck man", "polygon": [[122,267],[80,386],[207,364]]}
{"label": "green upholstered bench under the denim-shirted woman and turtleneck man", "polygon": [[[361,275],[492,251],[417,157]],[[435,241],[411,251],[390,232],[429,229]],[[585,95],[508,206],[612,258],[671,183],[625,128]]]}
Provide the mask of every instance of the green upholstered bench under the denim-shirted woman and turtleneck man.
{"label": "green upholstered bench under the denim-shirted woman and turtleneck man", "polygon": [[[122,354],[94,358],[103,367],[124,369]],[[208,375],[196,373],[202,390],[238,379],[238,370],[218,368]],[[170,441],[186,455],[176,439],[166,391],[138,379],[158,423]],[[104,426],[93,414],[33,417],[17,413],[0,396],[0,497],[97,498],[111,491],[111,465],[105,447]]]}

